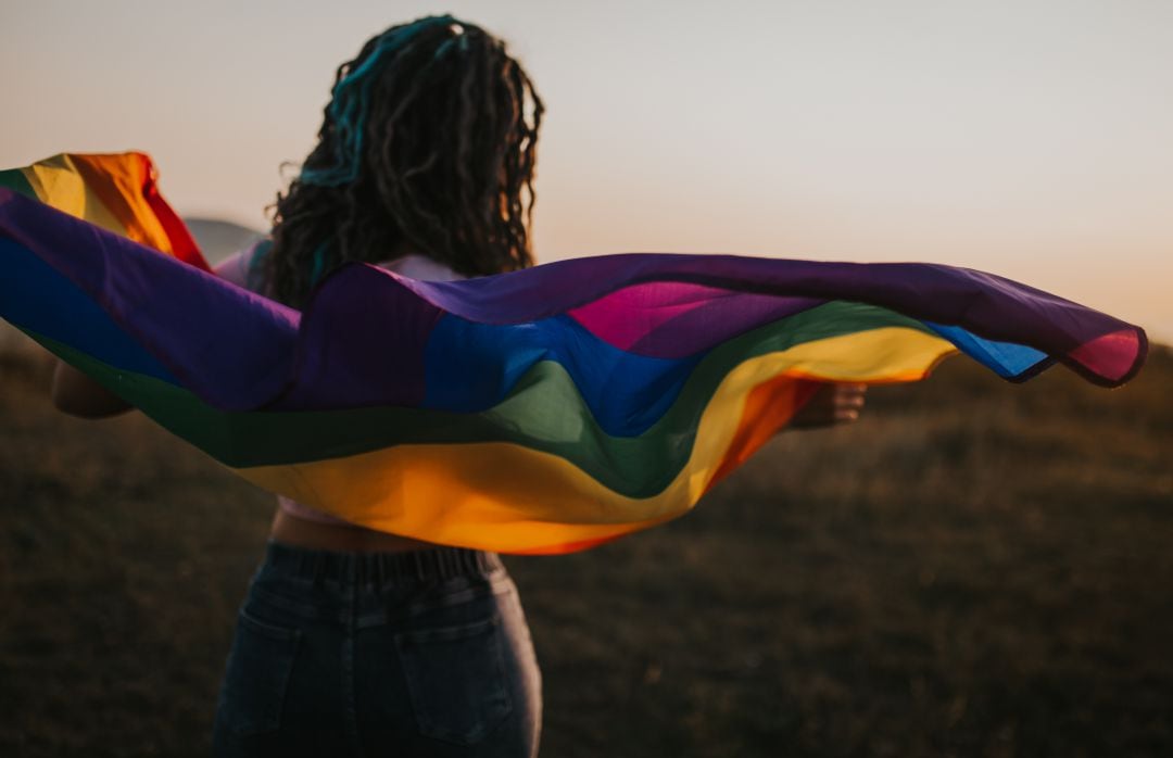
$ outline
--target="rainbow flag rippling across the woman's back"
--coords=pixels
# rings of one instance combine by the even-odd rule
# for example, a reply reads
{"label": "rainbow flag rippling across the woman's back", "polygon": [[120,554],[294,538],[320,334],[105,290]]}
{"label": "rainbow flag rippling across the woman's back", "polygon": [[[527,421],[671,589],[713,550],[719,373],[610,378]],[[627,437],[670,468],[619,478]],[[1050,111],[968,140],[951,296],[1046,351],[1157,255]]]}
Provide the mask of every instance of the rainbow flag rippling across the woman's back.
{"label": "rainbow flag rippling across the woman's back", "polygon": [[1139,327],[934,264],[621,255],[450,283],[351,264],[297,311],[181,260],[0,190],[5,319],[266,489],[507,553],[679,516],[820,383],[963,352],[1117,386],[1146,352]]}

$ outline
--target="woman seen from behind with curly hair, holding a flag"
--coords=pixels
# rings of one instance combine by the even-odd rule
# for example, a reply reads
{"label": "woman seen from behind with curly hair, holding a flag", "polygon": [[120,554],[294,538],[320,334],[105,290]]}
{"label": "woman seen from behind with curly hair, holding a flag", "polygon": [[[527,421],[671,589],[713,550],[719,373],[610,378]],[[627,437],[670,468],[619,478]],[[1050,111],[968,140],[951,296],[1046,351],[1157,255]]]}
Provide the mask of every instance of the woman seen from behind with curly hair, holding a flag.
{"label": "woman seen from behind with curly hair, holding a flag", "polygon": [[[422,279],[529,266],[542,101],[504,45],[450,16],[392,27],[337,73],[271,243],[218,268],[293,306],[346,262]],[[57,406],[126,405],[65,364]],[[852,420],[862,387],[799,426]],[[240,610],[218,754],[533,756],[541,683],[496,555],[364,529],[280,499]]]}

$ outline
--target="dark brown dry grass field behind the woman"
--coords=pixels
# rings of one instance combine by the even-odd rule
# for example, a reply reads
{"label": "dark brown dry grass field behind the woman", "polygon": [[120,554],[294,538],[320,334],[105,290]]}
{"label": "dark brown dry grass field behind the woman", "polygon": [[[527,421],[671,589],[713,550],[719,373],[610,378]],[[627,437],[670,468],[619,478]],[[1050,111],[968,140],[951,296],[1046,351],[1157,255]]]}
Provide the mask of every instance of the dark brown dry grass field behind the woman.
{"label": "dark brown dry grass field behind the woman", "polygon": [[[202,756],[271,500],[0,363],[0,756]],[[1173,353],[964,359],[696,513],[509,561],[543,756],[1173,756]]]}

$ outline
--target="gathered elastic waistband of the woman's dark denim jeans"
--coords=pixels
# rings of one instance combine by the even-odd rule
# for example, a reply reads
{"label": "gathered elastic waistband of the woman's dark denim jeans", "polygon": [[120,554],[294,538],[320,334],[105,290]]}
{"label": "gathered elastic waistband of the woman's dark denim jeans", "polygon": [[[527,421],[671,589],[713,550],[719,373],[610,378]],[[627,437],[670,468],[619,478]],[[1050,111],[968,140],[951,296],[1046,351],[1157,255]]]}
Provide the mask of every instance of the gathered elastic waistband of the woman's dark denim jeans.
{"label": "gathered elastic waistband of the woman's dark denim jeans", "polygon": [[488,576],[502,569],[496,553],[436,547],[407,553],[333,553],[269,542],[265,568],[285,576],[344,584],[404,584],[457,576]]}

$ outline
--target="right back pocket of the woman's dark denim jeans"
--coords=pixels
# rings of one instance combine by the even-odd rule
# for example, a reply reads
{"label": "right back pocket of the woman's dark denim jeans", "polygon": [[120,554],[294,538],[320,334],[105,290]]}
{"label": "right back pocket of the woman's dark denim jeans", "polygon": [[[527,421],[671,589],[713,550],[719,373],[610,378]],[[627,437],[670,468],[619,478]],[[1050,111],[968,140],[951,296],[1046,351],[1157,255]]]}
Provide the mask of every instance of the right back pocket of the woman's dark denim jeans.
{"label": "right back pocket of the woman's dark denim jeans", "polygon": [[395,647],[425,737],[475,745],[511,712],[497,616],[404,631]]}

